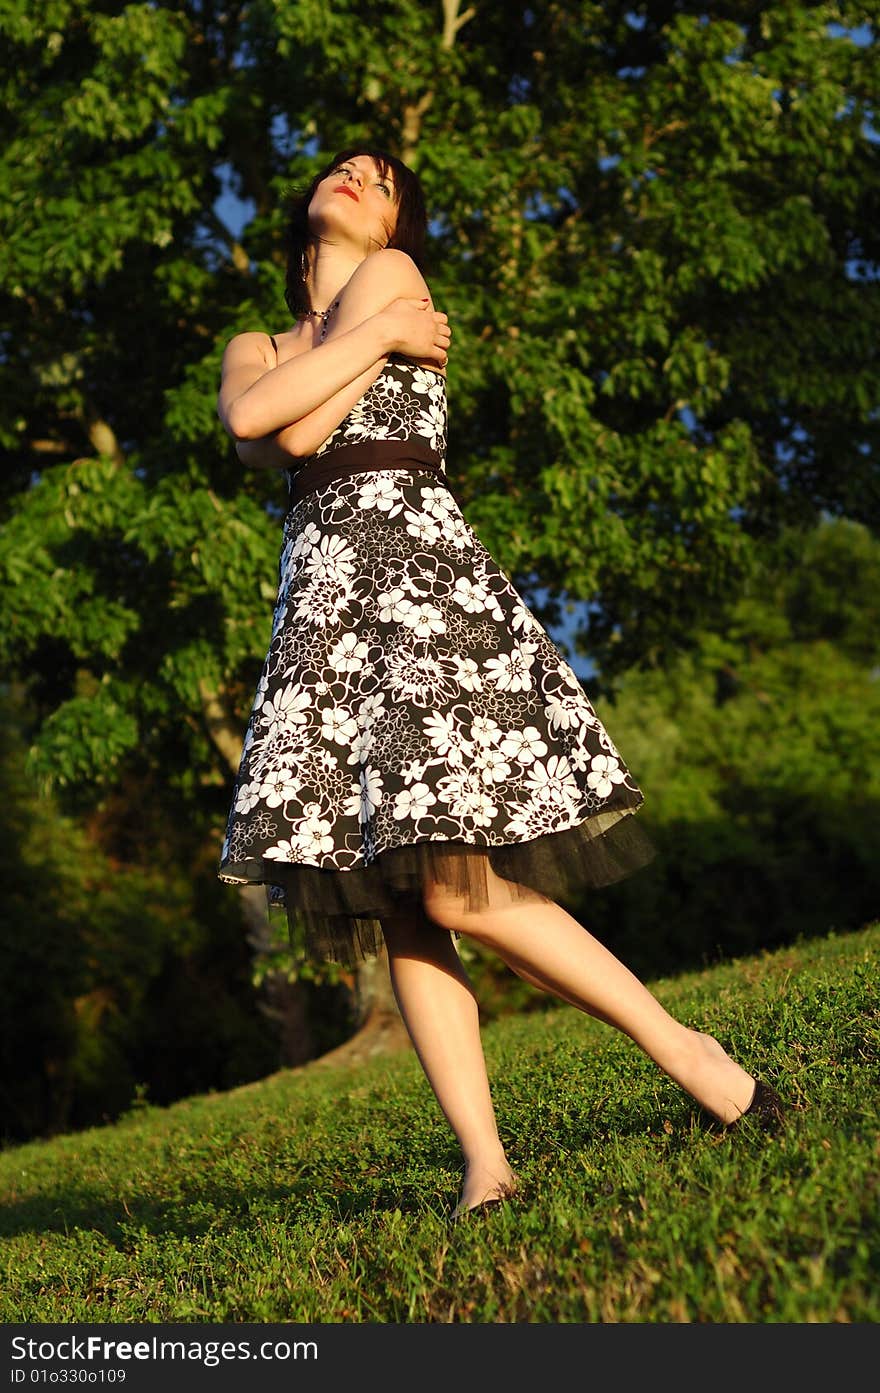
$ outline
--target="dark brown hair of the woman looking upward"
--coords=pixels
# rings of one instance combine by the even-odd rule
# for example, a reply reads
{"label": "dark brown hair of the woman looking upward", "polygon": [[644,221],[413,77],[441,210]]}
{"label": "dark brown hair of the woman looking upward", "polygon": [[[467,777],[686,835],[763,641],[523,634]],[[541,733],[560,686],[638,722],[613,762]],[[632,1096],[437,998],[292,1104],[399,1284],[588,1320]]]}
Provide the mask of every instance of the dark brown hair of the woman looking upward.
{"label": "dark brown hair of the woman looking upward", "polygon": [[394,194],[397,196],[397,227],[391,234],[388,247],[397,247],[407,252],[423,272],[425,263],[425,235],[427,231],[427,212],[425,195],[418,176],[387,150],[379,150],[369,145],[349,145],[333,156],[329,164],[315,176],[306,189],[294,189],[290,202],[290,215],[285,231],[287,251],[287,286],[284,299],[294,318],[306,309],[316,306],[309,304],[309,291],[305,283],[305,258],[317,247],[320,238],[309,228],[309,203],[312,195],[323,178],[333,174],[337,164],[345,164],[355,155],[366,155],[376,162],[380,178],[386,178],[388,171],[394,180]]}

